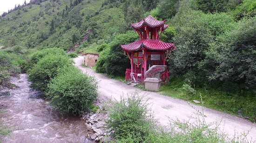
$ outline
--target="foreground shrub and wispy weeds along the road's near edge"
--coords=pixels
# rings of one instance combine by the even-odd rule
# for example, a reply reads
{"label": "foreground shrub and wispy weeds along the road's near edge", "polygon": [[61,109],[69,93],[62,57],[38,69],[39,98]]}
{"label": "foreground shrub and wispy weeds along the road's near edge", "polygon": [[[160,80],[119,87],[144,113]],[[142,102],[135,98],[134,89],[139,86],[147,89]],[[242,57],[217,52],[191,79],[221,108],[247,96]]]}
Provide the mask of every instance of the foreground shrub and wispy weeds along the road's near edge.
{"label": "foreground shrub and wispy weeds along the road's near edge", "polygon": [[[205,122],[202,110],[195,109],[196,118],[190,120],[170,119],[167,127],[162,127],[154,119],[154,114],[148,108],[144,95],[134,93],[121,101],[109,101],[106,129],[113,142],[111,143],[252,143],[248,141],[248,133],[236,134],[234,137],[222,131],[221,122]],[[200,96],[202,97],[202,96]],[[202,101],[202,98],[201,100]],[[202,105],[202,102],[201,102]],[[194,121],[195,119],[195,121]],[[104,139],[107,139],[104,137]],[[107,141],[106,141],[107,142]],[[105,143],[105,141],[104,141]]]}

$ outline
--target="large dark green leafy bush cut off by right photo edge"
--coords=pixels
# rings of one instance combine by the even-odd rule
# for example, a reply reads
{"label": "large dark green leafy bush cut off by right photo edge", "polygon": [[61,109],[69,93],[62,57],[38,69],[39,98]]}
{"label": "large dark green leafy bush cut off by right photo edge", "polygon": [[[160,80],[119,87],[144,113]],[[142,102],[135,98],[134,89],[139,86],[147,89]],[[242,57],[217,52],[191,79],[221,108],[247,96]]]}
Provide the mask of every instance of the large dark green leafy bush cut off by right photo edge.
{"label": "large dark green leafy bush cut off by right photo edge", "polygon": [[[215,72],[210,79],[220,81],[235,81],[256,86],[256,19],[240,21],[236,29],[225,34],[216,50],[208,53],[214,57]],[[227,60],[229,59],[229,60]]]}

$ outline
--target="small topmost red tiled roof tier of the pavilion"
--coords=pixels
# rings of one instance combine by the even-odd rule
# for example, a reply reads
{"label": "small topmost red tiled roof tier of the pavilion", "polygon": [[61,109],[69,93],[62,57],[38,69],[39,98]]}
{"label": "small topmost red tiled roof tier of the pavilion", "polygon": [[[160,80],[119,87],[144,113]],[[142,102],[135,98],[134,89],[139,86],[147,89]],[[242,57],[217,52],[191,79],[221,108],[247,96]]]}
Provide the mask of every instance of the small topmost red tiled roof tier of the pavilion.
{"label": "small topmost red tiled roof tier of the pavilion", "polygon": [[149,26],[149,27],[162,27],[163,29],[166,29],[168,25],[164,25],[164,21],[159,21],[154,19],[151,15],[148,15],[147,18],[141,20],[138,23],[130,24],[134,29],[140,29],[141,27],[144,26]]}

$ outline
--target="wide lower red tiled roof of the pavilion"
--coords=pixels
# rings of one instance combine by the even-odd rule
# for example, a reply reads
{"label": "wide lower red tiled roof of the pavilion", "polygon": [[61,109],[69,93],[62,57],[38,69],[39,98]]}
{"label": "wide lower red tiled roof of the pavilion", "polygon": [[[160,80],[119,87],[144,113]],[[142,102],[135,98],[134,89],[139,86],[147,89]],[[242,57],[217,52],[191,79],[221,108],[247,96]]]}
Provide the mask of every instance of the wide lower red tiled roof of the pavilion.
{"label": "wide lower red tiled roof of the pavilion", "polygon": [[156,40],[140,39],[131,44],[121,45],[121,48],[127,51],[136,51],[136,50],[140,50],[142,46],[149,50],[171,50],[171,49],[175,50],[176,49],[174,44],[165,43],[158,39]]}

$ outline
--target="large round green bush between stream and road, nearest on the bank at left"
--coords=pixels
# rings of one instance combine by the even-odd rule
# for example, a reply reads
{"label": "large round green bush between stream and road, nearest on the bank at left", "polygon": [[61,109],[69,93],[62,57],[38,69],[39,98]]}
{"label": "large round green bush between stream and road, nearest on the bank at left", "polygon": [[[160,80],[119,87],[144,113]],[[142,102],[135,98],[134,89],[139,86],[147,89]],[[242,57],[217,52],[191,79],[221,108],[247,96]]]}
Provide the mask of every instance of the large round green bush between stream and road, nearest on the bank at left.
{"label": "large round green bush between stream and road, nearest on the bank at left", "polygon": [[81,116],[89,110],[97,96],[94,77],[82,74],[74,66],[58,69],[58,75],[48,84],[49,104],[61,113],[72,112]]}

